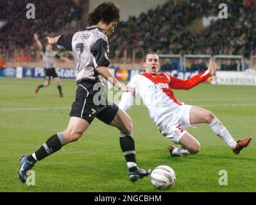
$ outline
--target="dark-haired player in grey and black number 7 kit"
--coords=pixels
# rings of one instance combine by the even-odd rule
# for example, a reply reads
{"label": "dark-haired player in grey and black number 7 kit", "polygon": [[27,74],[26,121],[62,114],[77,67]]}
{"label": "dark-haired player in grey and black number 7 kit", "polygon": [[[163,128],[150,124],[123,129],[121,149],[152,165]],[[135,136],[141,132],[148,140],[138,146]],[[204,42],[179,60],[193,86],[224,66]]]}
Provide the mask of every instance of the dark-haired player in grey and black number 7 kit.
{"label": "dark-haired player in grey and black number 7 kit", "polygon": [[[72,35],[62,35],[47,38],[48,43],[57,44],[67,51],[73,52],[76,61],[76,100],[71,109],[71,119],[67,129],[51,136],[46,143],[30,155],[21,157],[19,177],[22,183],[26,182],[26,172],[37,161],[60,150],[64,145],[81,138],[90,126],[94,117],[105,124],[117,127],[121,131],[119,142],[128,167],[128,176],[131,181],[148,176],[149,169],[137,166],[135,158],[135,143],[132,135],[132,119],[123,110],[107,101],[103,81],[107,79],[121,92],[132,92],[135,88],[123,86],[110,74],[108,65],[108,37],[114,32],[120,22],[120,10],[114,3],[102,3],[89,14],[89,27],[85,31],[78,31]],[[99,90],[96,87],[103,87]],[[100,103],[96,101],[100,92]]]}

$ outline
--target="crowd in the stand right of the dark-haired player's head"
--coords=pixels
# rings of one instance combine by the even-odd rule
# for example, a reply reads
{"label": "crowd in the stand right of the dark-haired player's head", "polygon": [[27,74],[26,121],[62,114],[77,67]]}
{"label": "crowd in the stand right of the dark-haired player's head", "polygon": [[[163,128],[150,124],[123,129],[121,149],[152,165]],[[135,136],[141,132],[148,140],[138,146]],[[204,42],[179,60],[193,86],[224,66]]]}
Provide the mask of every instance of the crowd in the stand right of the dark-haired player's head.
{"label": "crowd in the stand right of the dark-haired player's head", "polygon": [[192,20],[219,14],[223,1],[173,1],[122,22],[112,37],[112,58],[124,51],[142,58],[148,51],[161,54],[256,54],[255,0],[228,0],[228,19],[213,22],[204,31],[183,31]]}

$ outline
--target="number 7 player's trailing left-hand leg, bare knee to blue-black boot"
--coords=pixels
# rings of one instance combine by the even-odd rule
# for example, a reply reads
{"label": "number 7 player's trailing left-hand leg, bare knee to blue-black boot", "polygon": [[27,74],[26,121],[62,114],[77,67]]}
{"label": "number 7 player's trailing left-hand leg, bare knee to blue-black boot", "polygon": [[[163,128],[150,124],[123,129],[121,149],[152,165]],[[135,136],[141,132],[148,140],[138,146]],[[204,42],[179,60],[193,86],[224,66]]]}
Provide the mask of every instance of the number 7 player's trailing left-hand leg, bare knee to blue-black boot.
{"label": "number 7 player's trailing left-hand leg, bare knee to blue-black boot", "polygon": [[59,151],[67,143],[77,141],[89,127],[89,122],[78,117],[71,117],[65,131],[51,136],[36,152],[21,157],[21,168],[19,178],[22,183],[26,182],[27,172],[47,156]]}

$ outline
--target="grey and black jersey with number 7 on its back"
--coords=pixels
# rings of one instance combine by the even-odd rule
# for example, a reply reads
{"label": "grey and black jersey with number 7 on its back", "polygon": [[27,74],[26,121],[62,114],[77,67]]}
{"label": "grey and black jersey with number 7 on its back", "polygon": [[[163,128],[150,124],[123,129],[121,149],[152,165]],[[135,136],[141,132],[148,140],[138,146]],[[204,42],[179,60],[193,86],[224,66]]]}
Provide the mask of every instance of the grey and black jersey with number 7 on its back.
{"label": "grey and black jersey with number 7 on its back", "polygon": [[76,61],[76,83],[90,79],[103,81],[96,71],[98,67],[108,67],[108,38],[105,31],[97,26],[87,27],[74,35],[62,36],[58,47],[73,52]]}

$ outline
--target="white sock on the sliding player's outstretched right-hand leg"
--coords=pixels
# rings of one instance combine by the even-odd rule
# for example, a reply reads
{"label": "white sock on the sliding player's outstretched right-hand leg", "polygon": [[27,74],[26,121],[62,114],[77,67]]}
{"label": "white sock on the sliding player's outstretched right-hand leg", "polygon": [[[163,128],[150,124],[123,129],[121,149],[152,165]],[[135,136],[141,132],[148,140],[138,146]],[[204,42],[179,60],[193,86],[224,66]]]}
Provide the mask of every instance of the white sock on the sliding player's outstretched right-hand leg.
{"label": "white sock on the sliding player's outstretched right-hand leg", "polygon": [[218,118],[214,118],[212,122],[210,122],[209,126],[216,135],[223,139],[228,147],[230,147],[231,149],[235,149],[235,145],[237,145],[237,142],[235,142],[234,138],[232,138],[226,127],[221,124]]}

